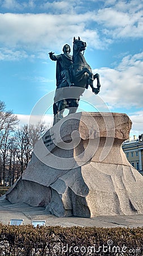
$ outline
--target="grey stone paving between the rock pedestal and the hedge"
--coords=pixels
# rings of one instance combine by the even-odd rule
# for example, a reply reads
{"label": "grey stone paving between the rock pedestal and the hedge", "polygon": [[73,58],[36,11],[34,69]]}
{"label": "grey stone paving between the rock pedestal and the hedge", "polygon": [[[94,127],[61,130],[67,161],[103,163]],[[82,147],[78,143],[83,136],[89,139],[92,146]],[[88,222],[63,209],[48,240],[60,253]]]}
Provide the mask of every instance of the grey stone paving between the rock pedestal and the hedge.
{"label": "grey stone paving between the rock pedestal and the hedge", "polygon": [[48,214],[44,207],[31,207],[27,204],[11,204],[8,200],[0,198],[0,222],[10,223],[11,219],[23,219],[24,224],[31,224],[35,220],[45,220],[46,226],[97,226],[117,227],[143,226],[143,214],[130,216],[97,216],[94,218],[55,217]]}

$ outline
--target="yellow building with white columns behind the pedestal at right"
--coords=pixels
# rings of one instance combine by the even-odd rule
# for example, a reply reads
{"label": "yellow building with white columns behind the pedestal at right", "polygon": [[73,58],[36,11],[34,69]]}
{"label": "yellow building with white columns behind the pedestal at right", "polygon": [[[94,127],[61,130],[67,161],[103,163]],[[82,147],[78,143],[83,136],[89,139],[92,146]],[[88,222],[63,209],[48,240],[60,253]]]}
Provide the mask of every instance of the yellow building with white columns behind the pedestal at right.
{"label": "yellow building with white columns behind the pedestal at right", "polygon": [[127,156],[129,163],[132,164],[139,172],[143,171],[143,134],[140,139],[129,139],[122,144],[123,151]]}

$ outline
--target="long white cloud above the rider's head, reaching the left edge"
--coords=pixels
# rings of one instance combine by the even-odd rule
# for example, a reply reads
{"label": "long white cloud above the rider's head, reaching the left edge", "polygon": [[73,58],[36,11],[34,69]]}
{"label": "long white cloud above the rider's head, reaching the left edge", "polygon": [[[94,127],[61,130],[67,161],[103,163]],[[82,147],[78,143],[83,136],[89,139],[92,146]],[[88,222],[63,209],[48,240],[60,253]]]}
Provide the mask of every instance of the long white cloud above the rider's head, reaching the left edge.
{"label": "long white cloud above the rider's head, reaching the left edge", "polygon": [[[90,37],[90,46],[103,48],[104,42],[96,30],[85,27],[91,14],[50,15],[50,14],[0,14],[0,42],[5,47],[23,47],[23,49],[51,49],[63,46],[72,36]],[[66,24],[65,24],[66,20]]]}

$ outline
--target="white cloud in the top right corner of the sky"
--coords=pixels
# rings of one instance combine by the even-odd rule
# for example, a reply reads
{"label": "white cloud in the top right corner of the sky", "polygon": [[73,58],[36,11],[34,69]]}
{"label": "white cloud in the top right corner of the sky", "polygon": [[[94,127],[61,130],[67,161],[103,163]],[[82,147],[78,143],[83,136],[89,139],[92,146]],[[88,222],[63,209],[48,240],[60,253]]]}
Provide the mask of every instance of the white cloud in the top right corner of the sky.
{"label": "white cloud in the top right corner of the sky", "polygon": [[103,25],[103,33],[110,38],[142,38],[142,7],[138,0],[116,1],[113,6],[99,9],[94,20]]}

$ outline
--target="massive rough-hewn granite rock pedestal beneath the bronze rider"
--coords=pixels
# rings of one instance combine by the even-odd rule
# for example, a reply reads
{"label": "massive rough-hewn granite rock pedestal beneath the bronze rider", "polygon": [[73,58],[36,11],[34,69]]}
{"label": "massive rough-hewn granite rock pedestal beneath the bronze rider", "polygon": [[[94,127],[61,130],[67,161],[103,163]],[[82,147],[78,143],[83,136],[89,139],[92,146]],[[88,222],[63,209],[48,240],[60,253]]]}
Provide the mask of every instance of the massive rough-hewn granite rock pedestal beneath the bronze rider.
{"label": "massive rough-hewn granite rock pedestal beneath the bronze rider", "polygon": [[122,143],[132,122],[120,113],[76,113],[36,143],[32,160],[6,198],[56,216],[143,213],[143,177]]}

